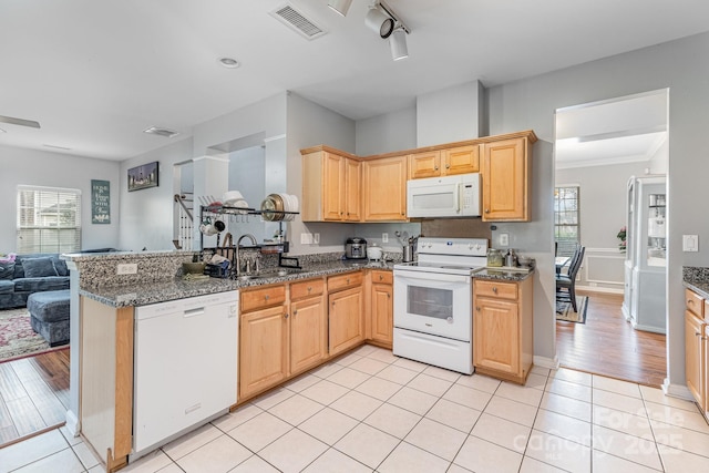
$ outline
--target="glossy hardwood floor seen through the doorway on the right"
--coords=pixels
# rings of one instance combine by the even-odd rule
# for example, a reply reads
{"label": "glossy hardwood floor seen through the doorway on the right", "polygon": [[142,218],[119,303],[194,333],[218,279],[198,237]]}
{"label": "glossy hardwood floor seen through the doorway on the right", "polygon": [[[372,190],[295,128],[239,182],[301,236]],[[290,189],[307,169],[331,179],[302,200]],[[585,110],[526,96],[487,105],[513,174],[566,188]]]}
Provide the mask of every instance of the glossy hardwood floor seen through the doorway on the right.
{"label": "glossy hardwood floor seen through the doorway on the right", "polygon": [[620,310],[623,296],[583,295],[589,297],[586,323],[556,322],[561,366],[661,385],[667,376],[665,336],[633,329]]}

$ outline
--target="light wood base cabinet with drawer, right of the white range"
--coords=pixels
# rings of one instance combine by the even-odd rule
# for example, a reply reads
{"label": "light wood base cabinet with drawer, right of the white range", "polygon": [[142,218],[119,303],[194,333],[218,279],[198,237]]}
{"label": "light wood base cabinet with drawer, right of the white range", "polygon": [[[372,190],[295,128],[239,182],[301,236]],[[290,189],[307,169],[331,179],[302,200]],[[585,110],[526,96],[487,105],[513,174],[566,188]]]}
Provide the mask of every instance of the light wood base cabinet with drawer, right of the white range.
{"label": "light wood base cabinet with drawer, right of the white range", "polygon": [[533,279],[473,281],[473,364],[482,374],[524,383],[533,358]]}

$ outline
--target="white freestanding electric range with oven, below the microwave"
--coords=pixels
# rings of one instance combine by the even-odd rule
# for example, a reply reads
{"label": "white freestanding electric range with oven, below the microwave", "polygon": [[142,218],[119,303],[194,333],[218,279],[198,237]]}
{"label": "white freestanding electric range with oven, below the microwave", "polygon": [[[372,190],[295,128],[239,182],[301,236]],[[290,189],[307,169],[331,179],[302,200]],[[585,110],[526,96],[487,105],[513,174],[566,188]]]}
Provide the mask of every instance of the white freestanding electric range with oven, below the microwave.
{"label": "white freestanding electric range with oven, below the microwave", "polygon": [[394,265],[394,354],[473,372],[472,275],[486,255],[484,238],[422,237],[418,260]]}

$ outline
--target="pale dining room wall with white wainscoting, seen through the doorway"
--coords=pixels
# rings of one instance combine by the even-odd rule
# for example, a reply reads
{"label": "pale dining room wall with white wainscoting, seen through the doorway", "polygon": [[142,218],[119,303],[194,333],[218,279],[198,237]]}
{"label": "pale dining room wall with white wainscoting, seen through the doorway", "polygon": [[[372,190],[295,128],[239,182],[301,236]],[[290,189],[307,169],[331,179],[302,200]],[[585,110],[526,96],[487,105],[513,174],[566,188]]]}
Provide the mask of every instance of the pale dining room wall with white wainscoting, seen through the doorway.
{"label": "pale dining room wall with white wainscoting, seen through the doorway", "polygon": [[586,254],[578,286],[623,292],[625,257],[616,235],[626,225],[627,181],[644,175],[647,167],[647,162],[637,162],[556,169],[557,186],[580,186],[580,244]]}

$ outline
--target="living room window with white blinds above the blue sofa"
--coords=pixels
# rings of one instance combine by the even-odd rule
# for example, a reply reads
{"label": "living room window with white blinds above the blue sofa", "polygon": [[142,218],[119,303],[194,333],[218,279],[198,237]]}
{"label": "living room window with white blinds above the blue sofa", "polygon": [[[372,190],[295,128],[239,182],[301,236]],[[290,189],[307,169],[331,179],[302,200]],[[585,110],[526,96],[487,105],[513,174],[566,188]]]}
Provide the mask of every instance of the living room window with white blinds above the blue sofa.
{"label": "living room window with white blinds above the blue sofa", "polygon": [[19,254],[81,250],[81,191],[18,186]]}

